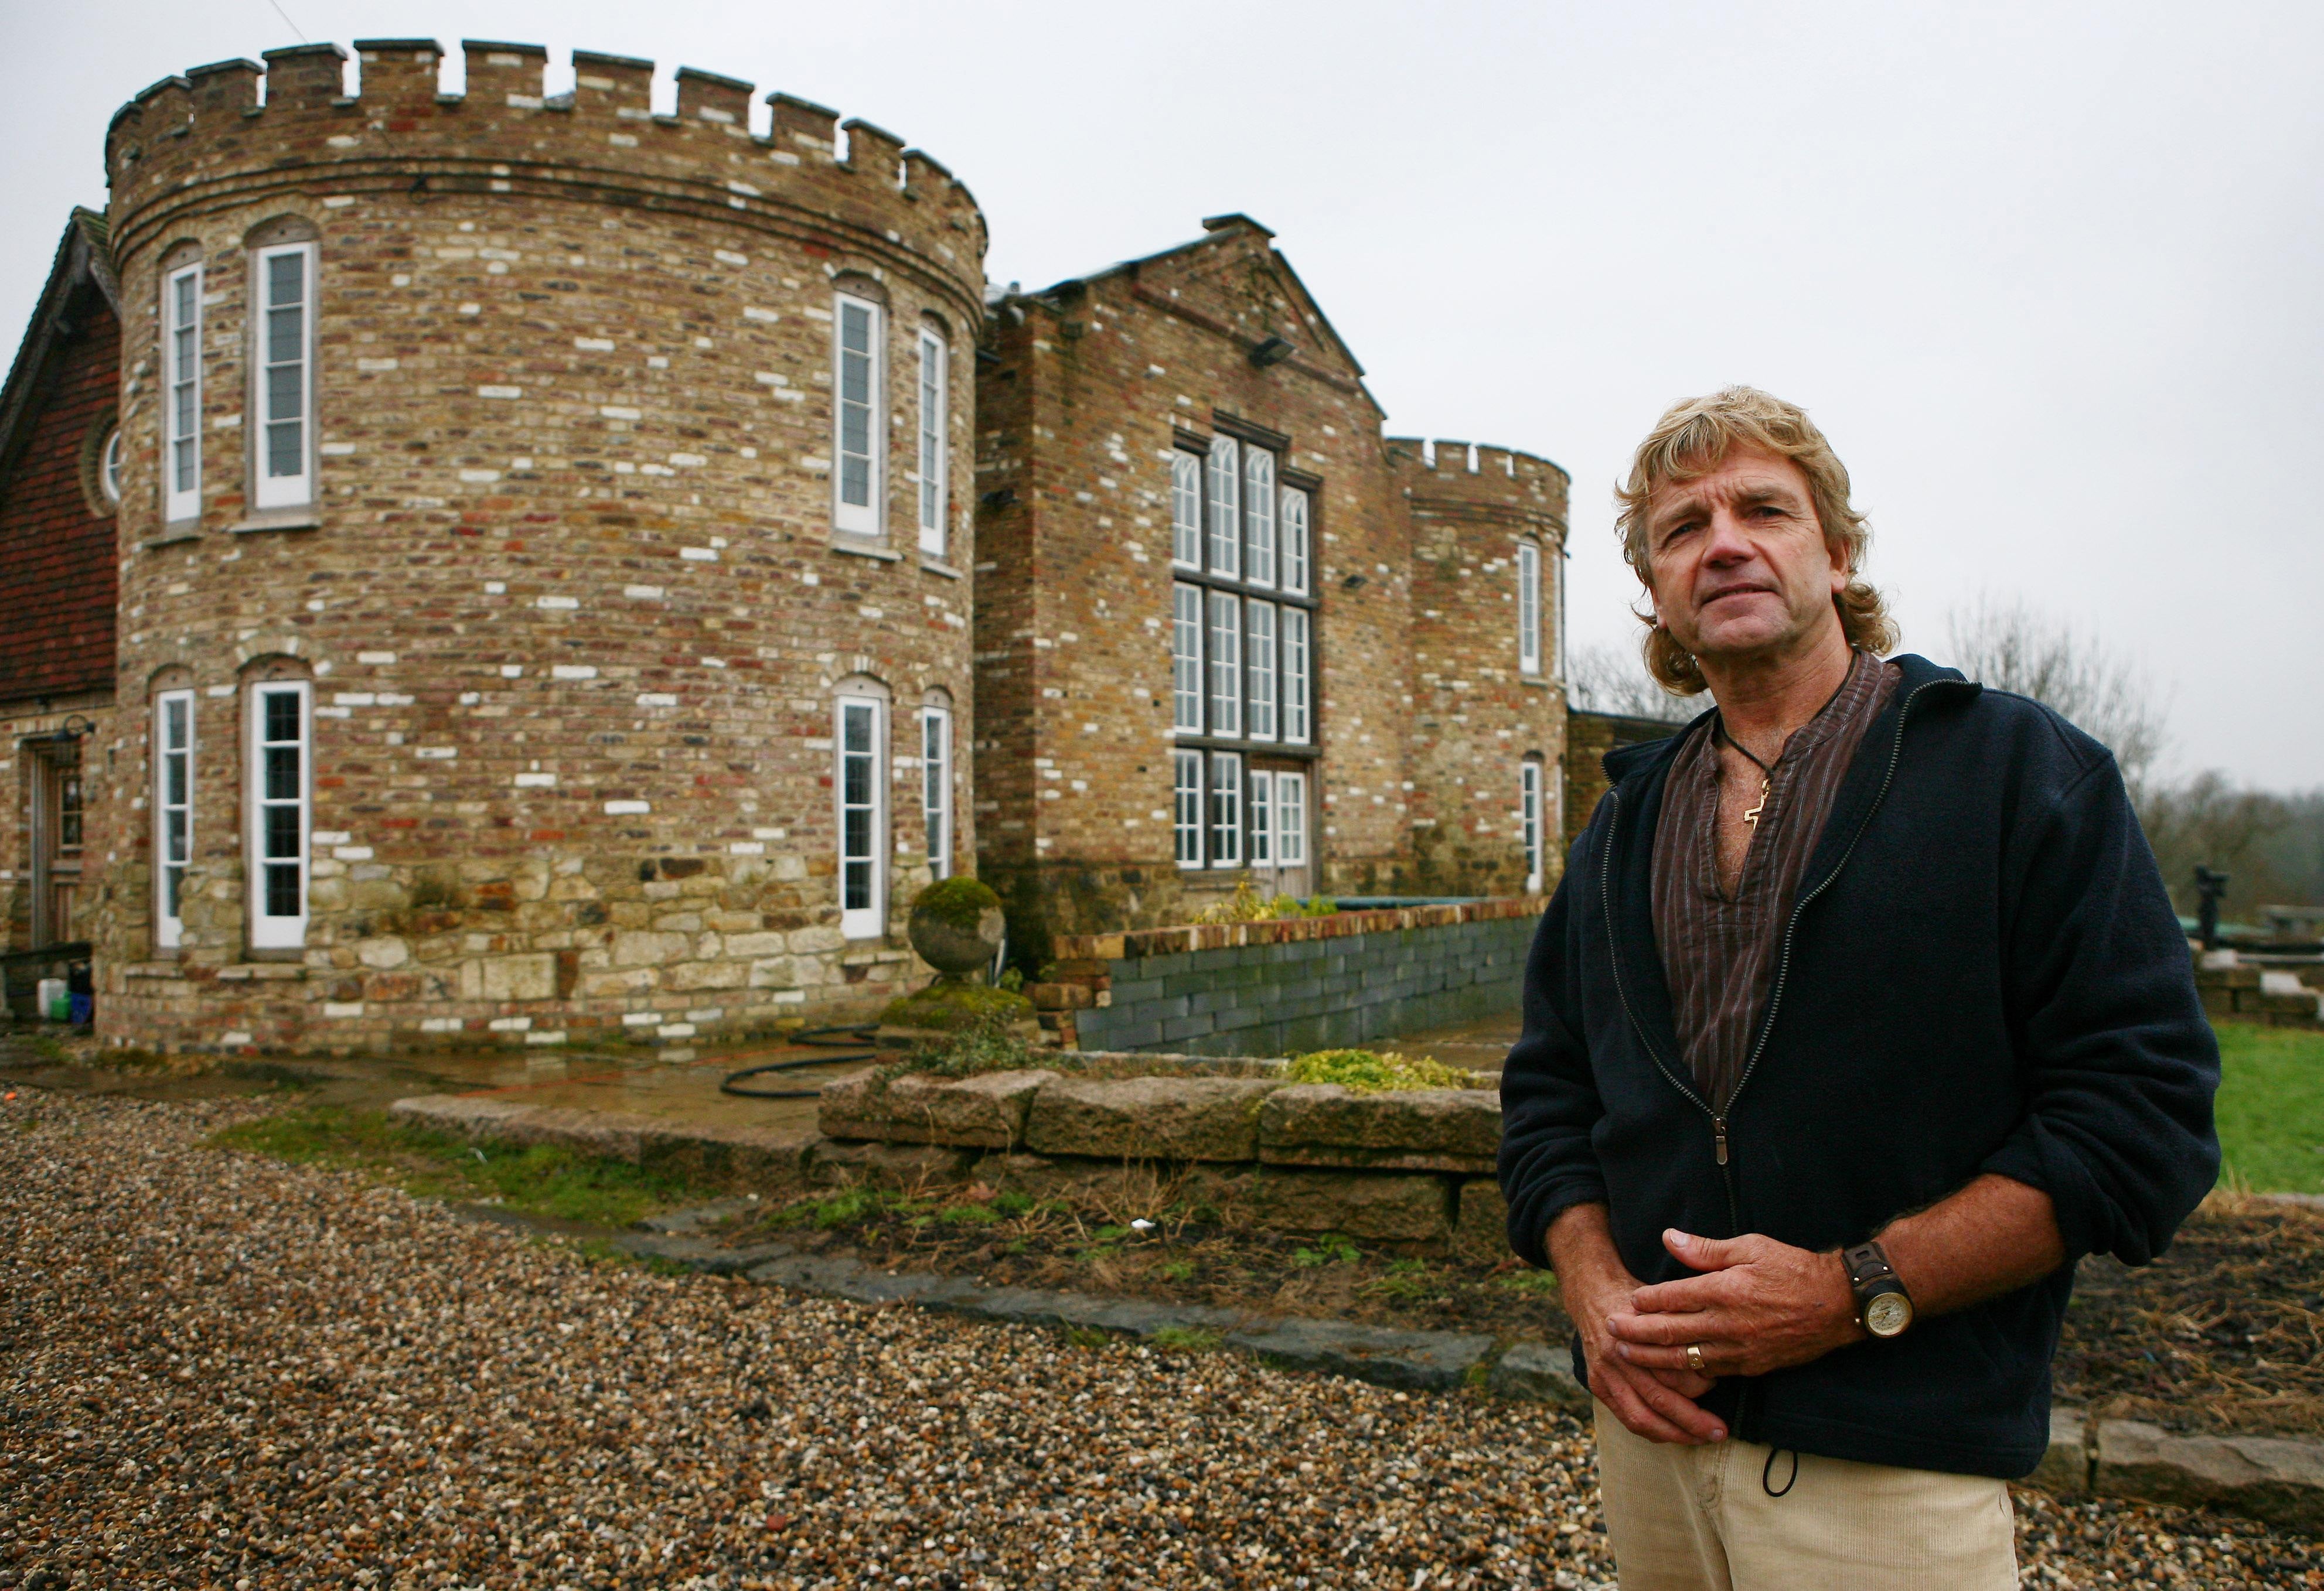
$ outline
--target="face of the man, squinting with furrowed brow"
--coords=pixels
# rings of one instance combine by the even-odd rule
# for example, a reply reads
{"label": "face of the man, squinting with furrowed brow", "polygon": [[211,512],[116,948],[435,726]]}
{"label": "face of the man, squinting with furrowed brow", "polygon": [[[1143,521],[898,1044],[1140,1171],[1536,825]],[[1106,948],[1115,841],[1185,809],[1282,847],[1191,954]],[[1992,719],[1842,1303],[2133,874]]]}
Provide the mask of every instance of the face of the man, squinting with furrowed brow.
{"label": "face of the man, squinting with furrowed brow", "polygon": [[1645,516],[1655,611],[1697,657],[1783,657],[1838,625],[1845,555],[1827,546],[1799,465],[1736,448],[1655,492]]}

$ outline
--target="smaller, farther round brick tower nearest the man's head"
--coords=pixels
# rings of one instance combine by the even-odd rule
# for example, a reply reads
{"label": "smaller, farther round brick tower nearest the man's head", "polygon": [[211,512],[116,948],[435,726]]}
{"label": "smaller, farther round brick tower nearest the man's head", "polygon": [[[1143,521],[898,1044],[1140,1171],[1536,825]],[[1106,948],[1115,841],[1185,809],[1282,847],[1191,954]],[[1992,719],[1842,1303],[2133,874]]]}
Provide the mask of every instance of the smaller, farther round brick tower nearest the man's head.
{"label": "smaller, farther round brick tower nearest the man's head", "polygon": [[1434,894],[1555,887],[1566,743],[1566,471],[1387,441],[1413,520],[1413,873]]}

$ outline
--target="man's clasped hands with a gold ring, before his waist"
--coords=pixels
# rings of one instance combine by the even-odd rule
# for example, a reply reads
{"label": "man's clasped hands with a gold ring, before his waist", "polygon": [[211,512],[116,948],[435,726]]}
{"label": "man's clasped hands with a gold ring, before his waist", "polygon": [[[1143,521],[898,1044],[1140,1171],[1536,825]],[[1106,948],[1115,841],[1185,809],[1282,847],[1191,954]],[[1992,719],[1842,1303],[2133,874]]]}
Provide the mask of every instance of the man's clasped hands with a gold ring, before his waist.
{"label": "man's clasped hands with a gold ring, before his waist", "polygon": [[1694,1403],[1715,1377],[1808,1363],[1864,1336],[1838,1254],[1759,1233],[1697,1238],[1678,1229],[1664,1231],[1662,1245],[1701,1275],[1638,1287],[1613,1266],[1585,1296],[1566,1294],[1590,1389],[1638,1435],[1724,1440],[1724,1424]]}

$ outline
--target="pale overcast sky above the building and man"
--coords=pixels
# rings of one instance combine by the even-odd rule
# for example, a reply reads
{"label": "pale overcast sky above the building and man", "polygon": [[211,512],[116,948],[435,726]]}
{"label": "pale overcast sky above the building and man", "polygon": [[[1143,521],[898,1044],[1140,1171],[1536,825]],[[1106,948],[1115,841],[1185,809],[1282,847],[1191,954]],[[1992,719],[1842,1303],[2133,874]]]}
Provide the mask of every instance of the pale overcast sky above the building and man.
{"label": "pale overcast sky above the building and man", "polygon": [[2147,671],[2178,766],[2324,785],[2312,2],[279,7],[0,0],[0,334],[158,77],[300,33],[537,42],[553,88],[651,56],[665,105],[697,65],[925,146],[995,281],[1264,221],[1392,432],[1573,474],[1576,641],[1634,634],[1629,448],[1750,381],[1852,469],[1908,648],[2024,597]]}

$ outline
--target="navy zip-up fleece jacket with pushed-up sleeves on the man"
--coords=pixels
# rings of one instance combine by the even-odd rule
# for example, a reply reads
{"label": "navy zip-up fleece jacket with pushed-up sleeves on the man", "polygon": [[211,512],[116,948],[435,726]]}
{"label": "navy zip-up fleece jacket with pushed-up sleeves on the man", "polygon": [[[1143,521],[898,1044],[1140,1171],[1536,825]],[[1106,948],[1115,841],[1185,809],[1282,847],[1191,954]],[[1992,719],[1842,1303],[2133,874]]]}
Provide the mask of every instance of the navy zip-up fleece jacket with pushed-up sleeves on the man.
{"label": "navy zip-up fleece jacket with pushed-up sleeves on the man", "polygon": [[1745,1440],[2017,1477],[2047,1447],[2071,1261],[2147,1264],[2219,1173],[2219,1048],[2113,755],[2036,701],[1899,664],[1722,1124],[1680,1061],[1648,892],[1678,741],[1606,757],[1527,964],[1501,1189],[1536,1266],[1559,1210],[1606,1203],[1643,1282],[1690,1275],[1664,1226],[1836,1250],[1989,1171],[2043,1189],[2068,1252],[2043,1282],[1703,1398]]}

